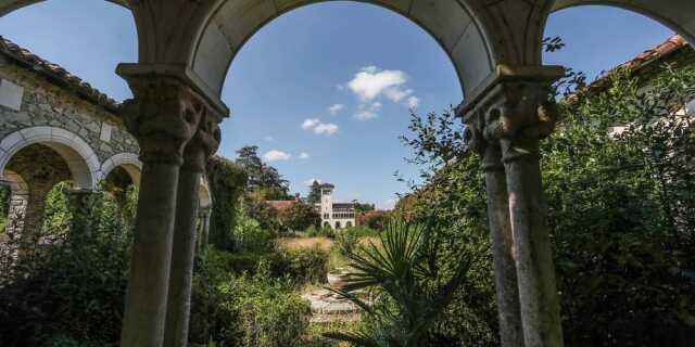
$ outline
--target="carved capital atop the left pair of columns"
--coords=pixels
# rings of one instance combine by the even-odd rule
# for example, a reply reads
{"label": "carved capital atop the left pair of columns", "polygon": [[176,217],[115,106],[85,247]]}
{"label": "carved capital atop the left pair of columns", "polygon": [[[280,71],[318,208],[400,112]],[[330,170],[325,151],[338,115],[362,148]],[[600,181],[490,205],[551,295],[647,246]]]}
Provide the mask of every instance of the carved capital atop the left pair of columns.
{"label": "carved capital atop the left pair of columns", "polygon": [[163,76],[126,77],[134,99],[122,106],[128,131],[140,143],[143,163],[184,160],[184,147],[207,111],[203,99],[186,83]]}

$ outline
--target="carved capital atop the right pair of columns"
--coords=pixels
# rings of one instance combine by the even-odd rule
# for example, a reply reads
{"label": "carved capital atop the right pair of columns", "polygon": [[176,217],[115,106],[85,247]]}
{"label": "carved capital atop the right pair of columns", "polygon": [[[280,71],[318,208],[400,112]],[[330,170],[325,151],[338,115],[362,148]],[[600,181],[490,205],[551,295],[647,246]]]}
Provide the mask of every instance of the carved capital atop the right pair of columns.
{"label": "carved capital atop the right pair of columns", "polygon": [[538,141],[555,129],[551,87],[560,76],[555,67],[549,73],[542,67],[501,73],[484,93],[458,110],[469,145],[483,156],[484,167],[498,166],[485,159],[494,147],[502,149],[505,162],[538,155]]}

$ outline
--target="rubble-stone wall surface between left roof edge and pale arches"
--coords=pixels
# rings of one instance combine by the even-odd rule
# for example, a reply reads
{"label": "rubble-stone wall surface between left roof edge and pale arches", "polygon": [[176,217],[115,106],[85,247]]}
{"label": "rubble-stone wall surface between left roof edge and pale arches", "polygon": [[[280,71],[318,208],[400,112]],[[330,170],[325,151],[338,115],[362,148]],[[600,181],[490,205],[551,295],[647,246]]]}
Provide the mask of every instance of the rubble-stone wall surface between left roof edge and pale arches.
{"label": "rubble-stone wall surface between left roof edge and pale arches", "polygon": [[113,113],[51,83],[24,67],[0,62],[0,79],[24,88],[21,108],[0,105],[0,139],[21,129],[51,126],[78,134],[103,163],[118,153],[138,153],[135,138]]}

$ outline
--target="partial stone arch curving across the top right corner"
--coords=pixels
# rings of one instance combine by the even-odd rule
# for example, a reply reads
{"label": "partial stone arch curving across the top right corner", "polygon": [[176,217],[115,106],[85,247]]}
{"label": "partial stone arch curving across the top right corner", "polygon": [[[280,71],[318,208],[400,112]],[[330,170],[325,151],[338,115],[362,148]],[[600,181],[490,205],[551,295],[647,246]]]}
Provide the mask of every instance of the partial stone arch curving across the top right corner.
{"label": "partial stone arch curving across the top right corner", "polygon": [[556,0],[553,12],[580,5],[608,5],[650,17],[695,44],[695,1],[692,0]]}

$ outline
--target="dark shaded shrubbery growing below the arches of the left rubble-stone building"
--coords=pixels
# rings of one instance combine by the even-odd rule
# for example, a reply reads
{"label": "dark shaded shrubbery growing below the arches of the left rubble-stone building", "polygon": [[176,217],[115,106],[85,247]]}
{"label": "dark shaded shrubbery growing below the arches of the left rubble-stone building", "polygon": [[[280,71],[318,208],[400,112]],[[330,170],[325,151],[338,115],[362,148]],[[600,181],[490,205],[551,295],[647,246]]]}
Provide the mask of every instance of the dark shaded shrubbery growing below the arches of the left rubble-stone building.
{"label": "dark shaded shrubbery growing below the arches of the left rubble-stone building", "polygon": [[[135,193],[129,195],[135,200]],[[96,196],[91,232],[75,230],[86,226],[73,222],[81,218],[77,211],[51,208],[67,211],[67,220],[52,220],[72,226],[66,236],[80,237],[65,237],[3,262],[11,268],[0,271],[2,346],[111,345],[121,333],[131,219],[121,218],[121,208],[108,193]]]}

